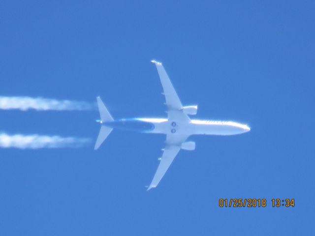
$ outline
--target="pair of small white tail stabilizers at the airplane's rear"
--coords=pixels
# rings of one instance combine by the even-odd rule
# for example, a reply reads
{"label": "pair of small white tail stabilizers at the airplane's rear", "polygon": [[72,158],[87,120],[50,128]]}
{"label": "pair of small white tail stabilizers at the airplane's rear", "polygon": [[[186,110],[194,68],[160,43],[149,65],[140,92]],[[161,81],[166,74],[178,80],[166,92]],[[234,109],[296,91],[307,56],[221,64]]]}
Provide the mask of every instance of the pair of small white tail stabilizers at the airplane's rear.
{"label": "pair of small white tail stabilizers at the airplane's rear", "polygon": [[[112,116],[109,114],[102,100],[100,100],[100,97],[97,97],[96,100],[97,100],[99,115],[101,119],[100,123],[102,124],[103,122],[114,120]],[[104,126],[104,125],[100,127],[99,134],[95,143],[95,148],[94,148],[95,150],[99,148],[99,146],[104,142],[104,140],[107,138],[110,132],[112,132],[112,130],[113,130],[112,128]]]}

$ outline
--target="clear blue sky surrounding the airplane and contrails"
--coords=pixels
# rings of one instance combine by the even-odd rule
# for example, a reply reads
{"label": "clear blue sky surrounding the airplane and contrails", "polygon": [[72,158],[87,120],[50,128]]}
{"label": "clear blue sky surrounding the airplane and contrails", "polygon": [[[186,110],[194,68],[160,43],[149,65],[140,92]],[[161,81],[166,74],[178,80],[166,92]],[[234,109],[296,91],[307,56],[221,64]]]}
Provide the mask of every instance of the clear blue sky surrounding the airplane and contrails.
{"label": "clear blue sky surrounding the airplane and contrails", "polygon": [[313,1],[1,1],[0,96],[100,95],[114,118],[163,117],[158,59],[198,118],[252,130],[190,137],[196,150],[146,192],[163,135],[114,130],[94,151],[97,111],[0,110],[8,134],[93,139],[0,149],[0,235],[314,235],[314,12]]}

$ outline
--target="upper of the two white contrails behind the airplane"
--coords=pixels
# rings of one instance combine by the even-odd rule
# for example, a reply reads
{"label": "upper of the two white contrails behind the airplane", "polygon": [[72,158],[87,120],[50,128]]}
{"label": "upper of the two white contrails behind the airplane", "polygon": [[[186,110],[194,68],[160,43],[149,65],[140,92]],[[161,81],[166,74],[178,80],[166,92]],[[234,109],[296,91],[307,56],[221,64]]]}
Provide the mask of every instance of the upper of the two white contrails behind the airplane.
{"label": "upper of the two white contrails behind the airplane", "polygon": [[19,109],[27,111],[84,111],[94,110],[95,106],[88,102],[56,100],[42,97],[4,97],[0,96],[0,110]]}

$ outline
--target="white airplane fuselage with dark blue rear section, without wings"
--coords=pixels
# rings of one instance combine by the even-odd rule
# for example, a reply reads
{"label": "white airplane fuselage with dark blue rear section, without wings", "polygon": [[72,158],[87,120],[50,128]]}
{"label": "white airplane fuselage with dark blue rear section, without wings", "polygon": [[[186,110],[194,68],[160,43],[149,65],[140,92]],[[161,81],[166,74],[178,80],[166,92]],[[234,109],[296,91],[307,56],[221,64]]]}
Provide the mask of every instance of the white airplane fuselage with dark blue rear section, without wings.
{"label": "white airplane fuselage with dark blue rear section, without wings", "polygon": [[250,127],[233,121],[191,119],[169,121],[166,118],[129,118],[103,122],[103,125],[129,131],[182,135],[235,135],[250,131]]}

